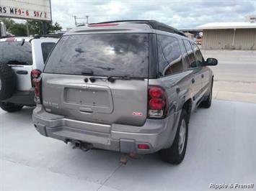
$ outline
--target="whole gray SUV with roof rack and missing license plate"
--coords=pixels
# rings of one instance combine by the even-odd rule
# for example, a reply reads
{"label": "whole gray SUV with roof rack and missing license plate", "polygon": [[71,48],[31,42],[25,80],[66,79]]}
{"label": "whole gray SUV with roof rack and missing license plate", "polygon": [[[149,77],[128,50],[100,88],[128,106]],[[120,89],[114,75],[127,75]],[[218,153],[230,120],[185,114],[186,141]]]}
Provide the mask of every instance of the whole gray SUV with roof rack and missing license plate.
{"label": "whole gray SUV with roof rack and missing license plate", "polygon": [[126,20],[63,35],[35,80],[43,136],[135,154],[185,156],[190,113],[209,108],[213,73],[195,42],[166,24]]}

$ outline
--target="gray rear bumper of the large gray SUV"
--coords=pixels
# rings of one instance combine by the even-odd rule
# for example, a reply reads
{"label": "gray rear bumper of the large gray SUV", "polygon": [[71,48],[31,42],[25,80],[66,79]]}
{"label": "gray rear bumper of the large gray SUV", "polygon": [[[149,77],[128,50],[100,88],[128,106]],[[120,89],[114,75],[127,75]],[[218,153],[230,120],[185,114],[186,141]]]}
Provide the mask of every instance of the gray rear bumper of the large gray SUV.
{"label": "gray rear bumper of the large gray SUV", "polygon": [[[147,154],[167,148],[172,144],[180,113],[162,120],[146,119],[144,126],[122,124],[95,124],[76,121],[45,111],[37,105],[32,119],[37,131],[61,141],[78,140],[92,144],[95,148],[124,153]],[[138,149],[138,144],[148,144],[149,149]]]}

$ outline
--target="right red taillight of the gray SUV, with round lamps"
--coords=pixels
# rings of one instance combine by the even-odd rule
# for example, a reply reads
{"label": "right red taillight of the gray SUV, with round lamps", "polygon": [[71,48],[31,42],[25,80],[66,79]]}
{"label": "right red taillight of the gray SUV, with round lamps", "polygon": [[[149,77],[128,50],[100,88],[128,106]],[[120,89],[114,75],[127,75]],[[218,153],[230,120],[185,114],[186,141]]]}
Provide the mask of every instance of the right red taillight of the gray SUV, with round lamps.
{"label": "right red taillight of the gray SUV, with round lamps", "polygon": [[168,115],[169,104],[167,93],[158,85],[149,85],[148,117],[164,118]]}

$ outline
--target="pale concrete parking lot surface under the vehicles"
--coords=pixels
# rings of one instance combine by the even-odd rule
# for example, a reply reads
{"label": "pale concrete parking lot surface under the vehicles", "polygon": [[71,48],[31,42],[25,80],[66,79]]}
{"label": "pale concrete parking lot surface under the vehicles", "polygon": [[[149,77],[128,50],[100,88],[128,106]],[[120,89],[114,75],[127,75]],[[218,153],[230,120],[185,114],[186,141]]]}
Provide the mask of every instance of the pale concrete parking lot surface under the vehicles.
{"label": "pale concrete parking lot surface under the vehicles", "polygon": [[[82,152],[37,133],[32,108],[0,110],[0,190],[210,190],[211,183],[256,186],[256,104],[213,101],[190,119],[182,164],[157,154],[129,159]],[[239,189],[238,189],[239,190]],[[249,190],[255,190],[249,189]]]}

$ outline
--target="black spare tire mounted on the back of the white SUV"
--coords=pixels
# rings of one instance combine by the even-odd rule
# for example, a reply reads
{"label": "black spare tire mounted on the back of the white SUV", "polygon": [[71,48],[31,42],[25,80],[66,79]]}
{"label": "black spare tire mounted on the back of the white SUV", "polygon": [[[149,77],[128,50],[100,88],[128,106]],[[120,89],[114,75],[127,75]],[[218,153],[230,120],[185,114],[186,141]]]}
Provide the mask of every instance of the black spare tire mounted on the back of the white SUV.
{"label": "black spare tire mounted on the back of the white SUV", "polygon": [[16,80],[12,67],[0,63],[0,101],[12,97],[16,88]]}

